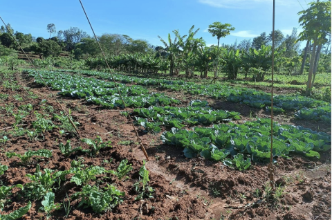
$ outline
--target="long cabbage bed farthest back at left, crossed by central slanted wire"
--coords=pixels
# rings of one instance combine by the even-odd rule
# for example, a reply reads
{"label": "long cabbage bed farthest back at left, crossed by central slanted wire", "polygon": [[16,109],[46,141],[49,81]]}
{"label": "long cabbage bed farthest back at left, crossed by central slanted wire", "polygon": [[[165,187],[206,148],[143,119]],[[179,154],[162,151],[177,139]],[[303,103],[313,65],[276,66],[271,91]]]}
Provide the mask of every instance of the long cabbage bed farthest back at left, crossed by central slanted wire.
{"label": "long cabbage bed farthest back at left, crossed by central slanted wire", "polygon": [[[59,95],[85,98],[87,102],[111,109],[124,108],[118,89],[113,82],[53,71],[38,71],[37,73],[33,70],[26,70],[25,73],[35,77],[37,84],[45,86],[46,83],[51,89],[60,91]],[[44,80],[39,77],[39,74]],[[149,93],[143,86],[118,84],[118,88],[127,107],[150,107],[180,103],[179,100],[169,98],[163,93]]]}

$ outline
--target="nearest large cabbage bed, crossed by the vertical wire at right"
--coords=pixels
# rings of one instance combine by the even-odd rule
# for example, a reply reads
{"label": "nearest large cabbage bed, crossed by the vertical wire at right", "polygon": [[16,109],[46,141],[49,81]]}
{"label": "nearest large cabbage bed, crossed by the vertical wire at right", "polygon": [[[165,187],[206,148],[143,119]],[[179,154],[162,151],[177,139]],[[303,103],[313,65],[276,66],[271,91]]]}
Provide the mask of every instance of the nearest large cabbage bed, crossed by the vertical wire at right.
{"label": "nearest large cabbage bed, crossed by the vertical wire at right", "polygon": [[[203,156],[215,161],[243,158],[248,161],[266,162],[270,158],[270,120],[258,119],[241,125],[232,122],[212,127],[194,127],[193,130],[172,128],[161,135],[169,145],[183,147],[188,158]],[[301,126],[273,124],[273,156],[302,154],[320,158],[319,152],[331,149],[331,137]],[[235,157],[236,156],[236,157]],[[234,162],[234,161],[233,161]],[[235,161],[236,162],[236,161]]]}

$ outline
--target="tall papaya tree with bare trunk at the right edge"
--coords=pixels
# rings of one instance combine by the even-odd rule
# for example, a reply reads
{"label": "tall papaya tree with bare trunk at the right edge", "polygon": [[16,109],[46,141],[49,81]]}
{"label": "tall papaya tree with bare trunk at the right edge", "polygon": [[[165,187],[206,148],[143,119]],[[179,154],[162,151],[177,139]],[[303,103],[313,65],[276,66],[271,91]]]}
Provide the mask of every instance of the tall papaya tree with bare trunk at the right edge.
{"label": "tall papaya tree with bare trunk at the right edge", "polygon": [[301,15],[299,25],[303,28],[302,32],[299,33],[298,40],[310,39],[313,41],[313,51],[306,83],[306,95],[311,95],[316,46],[324,44],[327,41],[327,35],[331,33],[331,1],[312,2],[307,10],[300,11],[298,15]]}

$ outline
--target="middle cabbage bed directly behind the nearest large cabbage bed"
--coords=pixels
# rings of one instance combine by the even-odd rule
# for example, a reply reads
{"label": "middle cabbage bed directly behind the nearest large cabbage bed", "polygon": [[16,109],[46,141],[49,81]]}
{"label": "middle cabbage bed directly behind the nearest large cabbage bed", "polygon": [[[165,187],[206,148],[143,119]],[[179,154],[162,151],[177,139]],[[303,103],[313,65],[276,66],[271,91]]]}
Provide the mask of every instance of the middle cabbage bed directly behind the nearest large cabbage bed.
{"label": "middle cabbage bed directly behind the nearest large cabbage bed", "polygon": [[146,132],[159,133],[160,127],[178,128],[194,125],[211,125],[239,120],[240,113],[214,110],[207,101],[193,100],[189,107],[149,107],[134,109],[136,123],[145,127]]}

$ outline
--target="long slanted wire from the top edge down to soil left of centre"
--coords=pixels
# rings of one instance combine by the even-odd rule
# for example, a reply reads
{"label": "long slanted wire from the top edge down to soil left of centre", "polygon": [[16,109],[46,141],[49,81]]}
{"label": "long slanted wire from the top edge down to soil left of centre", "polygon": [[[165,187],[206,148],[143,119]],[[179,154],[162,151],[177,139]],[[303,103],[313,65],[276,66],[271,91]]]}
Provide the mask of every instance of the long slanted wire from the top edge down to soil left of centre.
{"label": "long slanted wire from the top edge down to soil left of centre", "polygon": [[112,73],[112,71],[111,71],[111,68],[109,67],[109,63],[107,62],[106,56],[105,56],[105,54],[104,54],[104,51],[102,50],[102,46],[100,46],[100,42],[98,41],[97,35],[95,35],[95,31],[93,30],[93,27],[92,27],[92,25],[91,25],[90,19],[89,19],[88,15],[86,14],[86,11],[85,11],[85,9],[84,9],[84,6],[83,6],[82,1],[81,1],[81,0],[79,0],[79,1],[80,1],[81,6],[82,6],[82,10],[83,10],[83,12],[84,12],[84,14],[85,14],[85,16],[86,16],[86,19],[87,19],[88,22],[89,22],[89,25],[90,25],[90,27],[91,27],[91,30],[92,30],[93,36],[95,37],[95,40],[96,40],[96,42],[98,43],[98,46],[99,46],[99,48],[100,48],[100,51],[102,52],[102,56],[104,57],[104,61],[106,62],[106,64],[107,64],[107,68],[109,69],[109,73],[111,73],[112,80],[113,80],[113,82],[114,82],[114,84],[115,84],[115,86],[116,86],[116,89],[118,90],[118,93],[119,93],[119,95],[120,95],[120,98],[121,98],[122,103],[123,103],[123,106],[124,106],[124,111],[127,112],[127,116],[128,116],[128,118],[129,118],[129,122],[130,122],[131,125],[133,126],[133,130],[135,131],[136,138],[137,138],[137,140],[138,140],[138,143],[140,144],[140,147],[141,147],[141,149],[142,149],[142,152],[143,152],[143,154],[145,155],[145,158],[147,158],[147,161],[149,161],[149,156],[147,155],[147,151],[146,151],[146,149],[145,149],[145,147],[144,147],[144,145],[143,145],[143,143],[142,143],[142,139],[141,139],[140,136],[138,135],[138,131],[137,131],[135,125],[133,124],[133,120],[131,119],[130,114],[129,114],[129,111],[127,110],[127,105],[126,105],[126,103],[124,102],[124,99],[122,98],[122,95],[121,95],[121,93],[120,93],[120,89],[119,89],[119,87],[118,87],[118,84],[116,83],[116,80],[115,80],[114,75],[113,75],[113,73]]}

